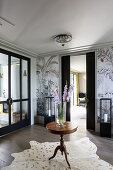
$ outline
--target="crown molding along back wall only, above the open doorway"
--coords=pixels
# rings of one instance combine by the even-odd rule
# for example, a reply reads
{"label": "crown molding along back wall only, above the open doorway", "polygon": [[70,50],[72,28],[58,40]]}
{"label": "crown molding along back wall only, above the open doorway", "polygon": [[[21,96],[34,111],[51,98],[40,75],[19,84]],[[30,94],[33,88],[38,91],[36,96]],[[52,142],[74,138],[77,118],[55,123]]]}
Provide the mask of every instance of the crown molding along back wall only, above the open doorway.
{"label": "crown molding along back wall only, above the open doorway", "polygon": [[98,44],[92,44],[92,45],[85,45],[85,46],[80,46],[80,47],[74,47],[74,48],[69,48],[69,49],[63,49],[63,50],[58,50],[58,51],[53,51],[53,52],[47,52],[47,53],[40,53],[38,54],[38,57],[40,56],[51,56],[51,55],[73,55],[77,53],[84,54],[85,52],[91,52],[91,51],[96,51],[99,48],[106,48],[113,46],[113,41],[111,42],[105,42],[105,43],[98,43]]}

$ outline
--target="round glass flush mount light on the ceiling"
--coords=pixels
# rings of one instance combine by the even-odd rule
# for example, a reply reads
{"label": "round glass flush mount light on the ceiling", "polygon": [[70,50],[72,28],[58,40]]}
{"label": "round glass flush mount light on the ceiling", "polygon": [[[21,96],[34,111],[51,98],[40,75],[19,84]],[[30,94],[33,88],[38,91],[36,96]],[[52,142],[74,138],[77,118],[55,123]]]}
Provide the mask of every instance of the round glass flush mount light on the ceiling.
{"label": "round glass flush mount light on the ceiling", "polygon": [[72,35],[71,34],[59,34],[53,37],[53,39],[64,46],[66,43],[70,42],[72,40]]}

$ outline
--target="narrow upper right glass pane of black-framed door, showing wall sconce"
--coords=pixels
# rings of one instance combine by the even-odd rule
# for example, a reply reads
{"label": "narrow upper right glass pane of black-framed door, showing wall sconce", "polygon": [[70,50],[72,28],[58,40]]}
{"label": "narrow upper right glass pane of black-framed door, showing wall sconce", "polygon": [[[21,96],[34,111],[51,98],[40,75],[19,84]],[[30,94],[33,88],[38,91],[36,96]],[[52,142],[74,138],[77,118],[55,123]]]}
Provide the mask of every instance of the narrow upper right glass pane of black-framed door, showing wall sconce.
{"label": "narrow upper right glass pane of black-framed door, showing wall sconce", "polygon": [[22,60],[22,99],[28,98],[28,61]]}

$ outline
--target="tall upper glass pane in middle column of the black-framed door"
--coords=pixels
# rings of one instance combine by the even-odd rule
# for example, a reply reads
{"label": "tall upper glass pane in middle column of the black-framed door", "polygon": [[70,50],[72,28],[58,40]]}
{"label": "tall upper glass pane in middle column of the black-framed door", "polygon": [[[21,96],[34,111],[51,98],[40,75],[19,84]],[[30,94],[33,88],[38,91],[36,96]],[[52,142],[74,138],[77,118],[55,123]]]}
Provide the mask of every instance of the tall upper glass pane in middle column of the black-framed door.
{"label": "tall upper glass pane in middle column of the black-framed door", "polygon": [[11,98],[20,99],[20,59],[11,57]]}

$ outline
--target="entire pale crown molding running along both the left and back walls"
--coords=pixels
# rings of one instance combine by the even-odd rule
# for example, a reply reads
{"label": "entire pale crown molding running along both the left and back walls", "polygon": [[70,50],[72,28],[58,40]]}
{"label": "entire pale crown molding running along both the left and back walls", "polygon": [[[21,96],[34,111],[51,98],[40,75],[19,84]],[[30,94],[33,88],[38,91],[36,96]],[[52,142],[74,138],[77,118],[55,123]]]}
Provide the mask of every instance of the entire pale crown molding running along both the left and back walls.
{"label": "entire pale crown molding running along both the left and back walls", "polygon": [[92,45],[85,45],[85,46],[79,46],[74,48],[68,48],[68,49],[62,49],[58,51],[52,51],[52,52],[45,52],[45,53],[34,53],[30,50],[27,50],[25,48],[19,47],[13,43],[10,43],[6,40],[0,39],[0,48],[16,52],[20,55],[24,55],[26,57],[46,57],[46,56],[52,56],[52,55],[77,55],[77,54],[84,54],[86,52],[96,51],[99,48],[106,48],[113,46],[113,41],[111,42],[105,42],[105,43],[98,43],[98,44],[92,44]]}

